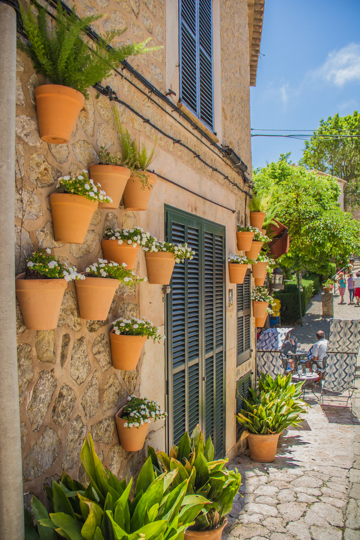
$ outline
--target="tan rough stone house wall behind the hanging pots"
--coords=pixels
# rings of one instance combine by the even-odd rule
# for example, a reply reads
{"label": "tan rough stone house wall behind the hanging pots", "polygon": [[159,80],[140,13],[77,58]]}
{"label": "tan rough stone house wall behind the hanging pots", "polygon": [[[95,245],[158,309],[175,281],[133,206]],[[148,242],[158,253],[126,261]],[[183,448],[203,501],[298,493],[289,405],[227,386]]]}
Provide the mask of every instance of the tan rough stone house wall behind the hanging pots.
{"label": "tan rough stone house wall behind the hanging pots", "polygon": [[[104,17],[94,29],[105,31],[125,29],[121,40],[139,41],[150,37],[150,45],[163,49],[130,58],[133,67],[162,92],[166,87],[166,37],[171,40],[172,29],[166,28],[165,0],[76,0],[80,15],[101,12]],[[49,6],[47,6],[48,9]],[[100,8],[100,9],[99,9]],[[249,112],[249,41],[247,2],[220,2],[221,55],[221,126],[222,143],[239,153],[250,168],[250,112]],[[236,66],[236,68],[234,67]],[[138,80],[126,70],[113,75],[109,84],[118,96],[152,122],[181,139],[198,153],[210,167],[183,147],[148,126],[125,106],[116,104],[121,122],[138,143],[149,148],[157,137],[156,157],[151,166],[155,172],[177,183],[191,187],[214,200],[235,208],[235,216],[219,210],[179,188],[158,180],[147,212],[128,212],[121,204],[118,210],[98,210],[93,217],[83,245],[64,245],[55,241],[51,221],[49,194],[62,174],[78,173],[97,160],[100,146],[110,151],[119,148],[111,102],[97,96],[90,89],[68,144],[51,145],[40,140],[34,89],[45,82],[36,75],[30,60],[18,52],[17,62],[17,118],[16,118],[16,268],[24,268],[26,257],[34,249],[49,247],[52,252],[82,271],[101,257],[100,241],[107,225],[119,227],[142,226],[159,239],[164,238],[164,202],[184,208],[227,226],[227,253],[235,253],[236,222],[244,222],[245,198],[228,180],[214,172],[219,168],[240,187],[243,180],[218,152],[210,149],[208,141],[196,139],[192,129],[181,127],[177,115],[166,114],[157,97],[154,102]],[[139,89],[131,83],[136,84]],[[171,109],[168,107],[168,111]],[[186,120],[182,119],[186,124]],[[201,135],[198,137],[202,139]],[[178,171],[176,173],[176,170]],[[179,199],[180,198],[180,199]],[[179,203],[179,200],[181,202]],[[249,200],[249,199],[248,199]],[[146,272],[145,257],[138,262],[141,275]],[[227,276],[228,280],[228,276]],[[227,281],[228,286],[228,281]],[[235,286],[233,286],[235,287]],[[235,289],[236,290],[236,289]],[[80,319],[74,285],[64,295],[58,327],[55,330],[34,332],[26,330],[21,312],[17,309],[19,399],[21,407],[24,492],[34,492],[44,499],[43,485],[50,477],[66,469],[71,475],[84,478],[79,461],[81,444],[86,433],[91,433],[96,450],[106,467],[115,474],[135,474],[141,465],[142,452],[127,453],[118,441],[114,429],[114,415],[131,393],[147,395],[165,407],[165,351],[164,344],[147,342],[134,372],[119,372],[112,368],[109,332],[111,321],[118,316],[146,316],[164,332],[164,304],[160,286],[141,284],[128,288],[120,286],[114,297],[106,321]],[[227,310],[228,389],[235,396],[235,377],[253,368],[253,360],[246,362],[236,373],[235,308]],[[255,348],[255,347],[252,347]],[[164,373],[163,373],[164,372]],[[234,403],[229,404],[229,435],[227,451],[234,447]],[[164,421],[152,424],[148,441],[164,447]],[[28,500],[28,499],[27,499]]]}

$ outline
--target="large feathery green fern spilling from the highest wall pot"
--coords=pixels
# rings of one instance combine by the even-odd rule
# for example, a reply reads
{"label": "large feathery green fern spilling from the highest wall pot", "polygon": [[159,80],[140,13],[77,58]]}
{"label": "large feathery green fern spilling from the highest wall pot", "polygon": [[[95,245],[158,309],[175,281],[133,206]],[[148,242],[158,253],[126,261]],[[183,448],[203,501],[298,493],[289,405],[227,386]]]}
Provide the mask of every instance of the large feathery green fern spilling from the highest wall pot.
{"label": "large feathery green fern spilling from the highest wall pot", "polygon": [[28,36],[27,42],[18,41],[19,49],[32,60],[38,73],[49,78],[53,84],[70,86],[89,98],[88,87],[110,76],[128,56],[141,55],[160,47],[147,48],[150,38],[142,43],[113,46],[113,39],[125,30],[105,32],[91,47],[84,42],[88,26],[103,15],[79,18],[75,13],[67,15],[58,2],[54,28],[47,29],[46,11],[36,4],[37,20],[31,12],[22,11],[23,25]]}

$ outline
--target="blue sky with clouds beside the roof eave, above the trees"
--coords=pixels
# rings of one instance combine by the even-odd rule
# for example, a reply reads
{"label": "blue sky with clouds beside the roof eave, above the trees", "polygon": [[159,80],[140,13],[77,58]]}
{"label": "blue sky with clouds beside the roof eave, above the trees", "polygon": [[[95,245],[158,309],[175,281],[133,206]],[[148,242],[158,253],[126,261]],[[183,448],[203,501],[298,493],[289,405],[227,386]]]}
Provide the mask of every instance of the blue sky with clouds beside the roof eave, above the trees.
{"label": "blue sky with clouds beside the roof eave, above the trees", "polygon": [[[301,133],[336,112],[360,110],[360,0],[266,0],[261,53],[250,90],[252,128]],[[253,167],[286,152],[297,163],[303,146],[252,137]]]}

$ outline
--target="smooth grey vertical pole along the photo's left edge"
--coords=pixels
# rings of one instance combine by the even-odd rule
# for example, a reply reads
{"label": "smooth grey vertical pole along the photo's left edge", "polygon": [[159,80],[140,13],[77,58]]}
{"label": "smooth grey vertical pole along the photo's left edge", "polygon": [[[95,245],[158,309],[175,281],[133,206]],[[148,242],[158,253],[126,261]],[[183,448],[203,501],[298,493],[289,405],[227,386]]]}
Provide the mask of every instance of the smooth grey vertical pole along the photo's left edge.
{"label": "smooth grey vertical pole along the photo's left edge", "polygon": [[[10,4],[10,5],[9,5]],[[15,309],[16,3],[0,1],[0,538],[24,539]]]}

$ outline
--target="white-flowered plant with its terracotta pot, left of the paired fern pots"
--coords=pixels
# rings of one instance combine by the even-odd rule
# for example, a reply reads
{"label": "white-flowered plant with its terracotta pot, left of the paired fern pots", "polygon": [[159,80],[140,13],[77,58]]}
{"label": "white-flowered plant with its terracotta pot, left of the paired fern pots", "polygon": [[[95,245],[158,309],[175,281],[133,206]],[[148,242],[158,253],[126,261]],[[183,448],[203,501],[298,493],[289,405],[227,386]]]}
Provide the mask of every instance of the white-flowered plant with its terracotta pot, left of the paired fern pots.
{"label": "white-flowered plant with its terracotta pot, left of the paired fern pots", "polygon": [[50,205],[54,236],[63,244],[83,244],[90,222],[101,201],[111,201],[87,172],[76,177],[58,178],[57,190],[50,193]]}

